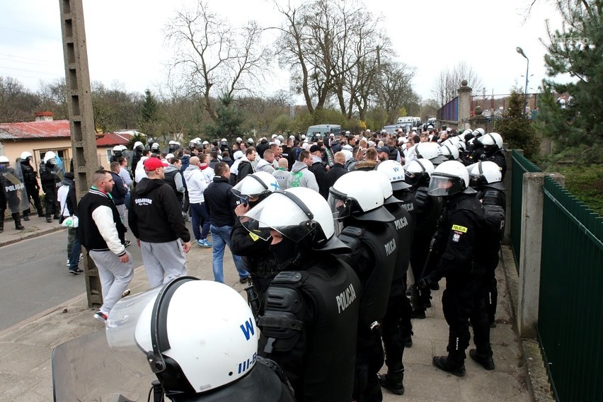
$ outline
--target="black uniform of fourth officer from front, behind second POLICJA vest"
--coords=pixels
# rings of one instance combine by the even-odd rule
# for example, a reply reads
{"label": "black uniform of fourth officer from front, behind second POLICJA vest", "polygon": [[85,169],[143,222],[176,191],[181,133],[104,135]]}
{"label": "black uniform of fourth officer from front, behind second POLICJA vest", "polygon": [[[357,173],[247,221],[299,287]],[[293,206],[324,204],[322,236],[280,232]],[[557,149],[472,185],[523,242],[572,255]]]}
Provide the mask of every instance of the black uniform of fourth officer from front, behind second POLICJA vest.
{"label": "black uniform of fourth officer from front, behind second POLICJA vest", "polygon": [[[399,191],[401,193],[401,191]],[[410,192],[406,192],[412,195]],[[396,244],[396,265],[394,275],[391,280],[391,289],[389,292],[389,301],[385,316],[383,318],[383,329],[381,338],[385,348],[385,363],[388,372],[381,380],[388,388],[393,386],[397,392],[403,392],[402,380],[404,373],[404,364],[402,362],[404,355],[405,340],[412,335],[412,326],[410,324],[410,314],[412,307],[406,297],[406,271],[410,260],[410,244],[413,241],[415,231],[415,222],[406,209],[401,206],[401,202],[391,202],[384,207],[390,214],[394,215],[394,229],[398,234]]]}

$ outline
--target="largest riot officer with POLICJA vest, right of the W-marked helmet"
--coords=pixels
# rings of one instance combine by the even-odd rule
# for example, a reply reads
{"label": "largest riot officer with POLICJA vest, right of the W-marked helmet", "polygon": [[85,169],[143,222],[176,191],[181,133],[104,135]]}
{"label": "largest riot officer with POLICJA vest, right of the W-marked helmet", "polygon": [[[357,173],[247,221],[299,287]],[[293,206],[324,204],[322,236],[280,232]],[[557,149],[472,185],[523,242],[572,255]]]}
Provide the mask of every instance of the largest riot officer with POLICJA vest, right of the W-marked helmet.
{"label": "largest riot officer with POLICJA vest, right of the W-marked helmet", "polygon": [[258,354],[282,367],[297,401],[350,401],[361,289],[337,257],[350,248],[335,236],[326,200],[309,188],[290,188],[244,217],[251,233],[271,239],[282,270],[266,292]]}

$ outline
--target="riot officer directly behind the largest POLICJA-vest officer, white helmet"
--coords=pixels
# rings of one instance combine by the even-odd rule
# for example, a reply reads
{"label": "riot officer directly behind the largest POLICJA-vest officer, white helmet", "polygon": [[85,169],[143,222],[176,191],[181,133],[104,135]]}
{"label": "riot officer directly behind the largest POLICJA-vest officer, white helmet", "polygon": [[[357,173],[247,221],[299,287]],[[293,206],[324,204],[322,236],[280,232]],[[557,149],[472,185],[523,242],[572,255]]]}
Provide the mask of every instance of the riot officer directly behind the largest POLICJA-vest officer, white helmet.
{"label": "riot officer directly behind the largest POLICJA-vest officer, white helmet", "polygon": [[398,253],[395,217],[384,205],[381,185],[372,173],[352,171],[329,190],[333,217],[341,222],[340,239],[352,248],[352,266],[362,283],[357,328],[355,401],[381,401],[379,369],[384,363],[381,323],[389,302]]}

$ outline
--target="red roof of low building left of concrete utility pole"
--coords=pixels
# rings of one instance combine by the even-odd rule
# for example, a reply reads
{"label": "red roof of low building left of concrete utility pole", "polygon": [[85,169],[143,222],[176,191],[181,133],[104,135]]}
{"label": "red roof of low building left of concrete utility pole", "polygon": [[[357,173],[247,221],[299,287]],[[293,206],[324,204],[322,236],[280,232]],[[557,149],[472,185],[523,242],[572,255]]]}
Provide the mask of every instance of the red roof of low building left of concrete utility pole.
{"label": "red roof of low building left of concrete utility pole", "polygon": [[0,123],[0,140],[69,138],[69,120]]}

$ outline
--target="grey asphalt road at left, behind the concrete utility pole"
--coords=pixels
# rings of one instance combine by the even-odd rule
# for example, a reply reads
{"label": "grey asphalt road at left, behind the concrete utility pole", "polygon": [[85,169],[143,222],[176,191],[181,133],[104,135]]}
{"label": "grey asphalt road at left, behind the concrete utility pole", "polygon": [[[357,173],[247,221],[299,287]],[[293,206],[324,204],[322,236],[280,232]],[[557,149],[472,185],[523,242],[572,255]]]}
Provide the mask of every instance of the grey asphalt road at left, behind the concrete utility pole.
{"label": "grey asphalt road at left, behind the concrete utility pole", "polygon": [[[134,268],[142,265],[134,241],[127,250]],[[86,292],[84,274],[65,265],[66,230],[4,246],[0,254],[0,331]]]}

